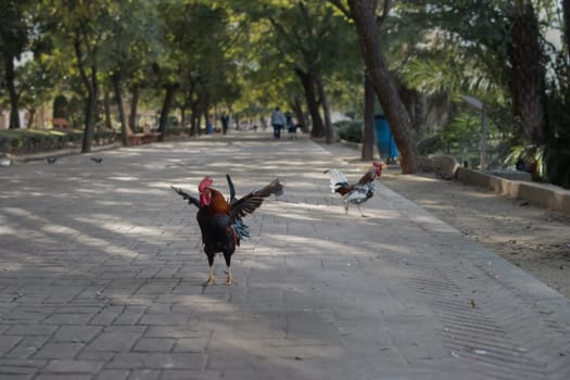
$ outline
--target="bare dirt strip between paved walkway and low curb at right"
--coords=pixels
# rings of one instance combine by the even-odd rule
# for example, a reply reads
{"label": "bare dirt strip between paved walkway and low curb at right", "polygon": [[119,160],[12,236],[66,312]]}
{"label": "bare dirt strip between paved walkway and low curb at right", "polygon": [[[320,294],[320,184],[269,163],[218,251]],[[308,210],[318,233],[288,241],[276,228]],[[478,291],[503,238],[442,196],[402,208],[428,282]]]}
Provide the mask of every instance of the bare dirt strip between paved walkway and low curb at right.
{"label": "bare dirt strip between paved walkway and low curb at right", "polygon": [[[345,159],[353,155],[349,162],[363,165],[354,149],[324,148]],[[380,181],[570,297],[570,215],[459,181],[435,179],[430,173],[402,175],[398,167],[389,167]]]}

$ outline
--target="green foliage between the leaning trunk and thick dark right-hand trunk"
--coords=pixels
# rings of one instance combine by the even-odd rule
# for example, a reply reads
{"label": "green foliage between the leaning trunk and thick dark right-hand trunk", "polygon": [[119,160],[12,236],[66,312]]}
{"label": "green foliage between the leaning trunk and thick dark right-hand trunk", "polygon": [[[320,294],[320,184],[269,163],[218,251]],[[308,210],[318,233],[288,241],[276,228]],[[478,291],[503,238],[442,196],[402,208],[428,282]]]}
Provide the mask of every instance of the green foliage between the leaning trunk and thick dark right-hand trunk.
{"label": "green foliage between the leaning trunk and thick dark right-hand trunk", "polygon": [[[449,118],[460,94],[487,104],[503,132],[516,130],[506,66],[507,2],[418,0],[395,4],[384,23],[392,66],[407,88],[436,96],[434,109]],[[443,96],[443,97],[442,97]],[[441,112],[441,111],[439,111]],[[498,121],[501,118],[501,121]],[[433,127],[433,126],[429,126]]]}

